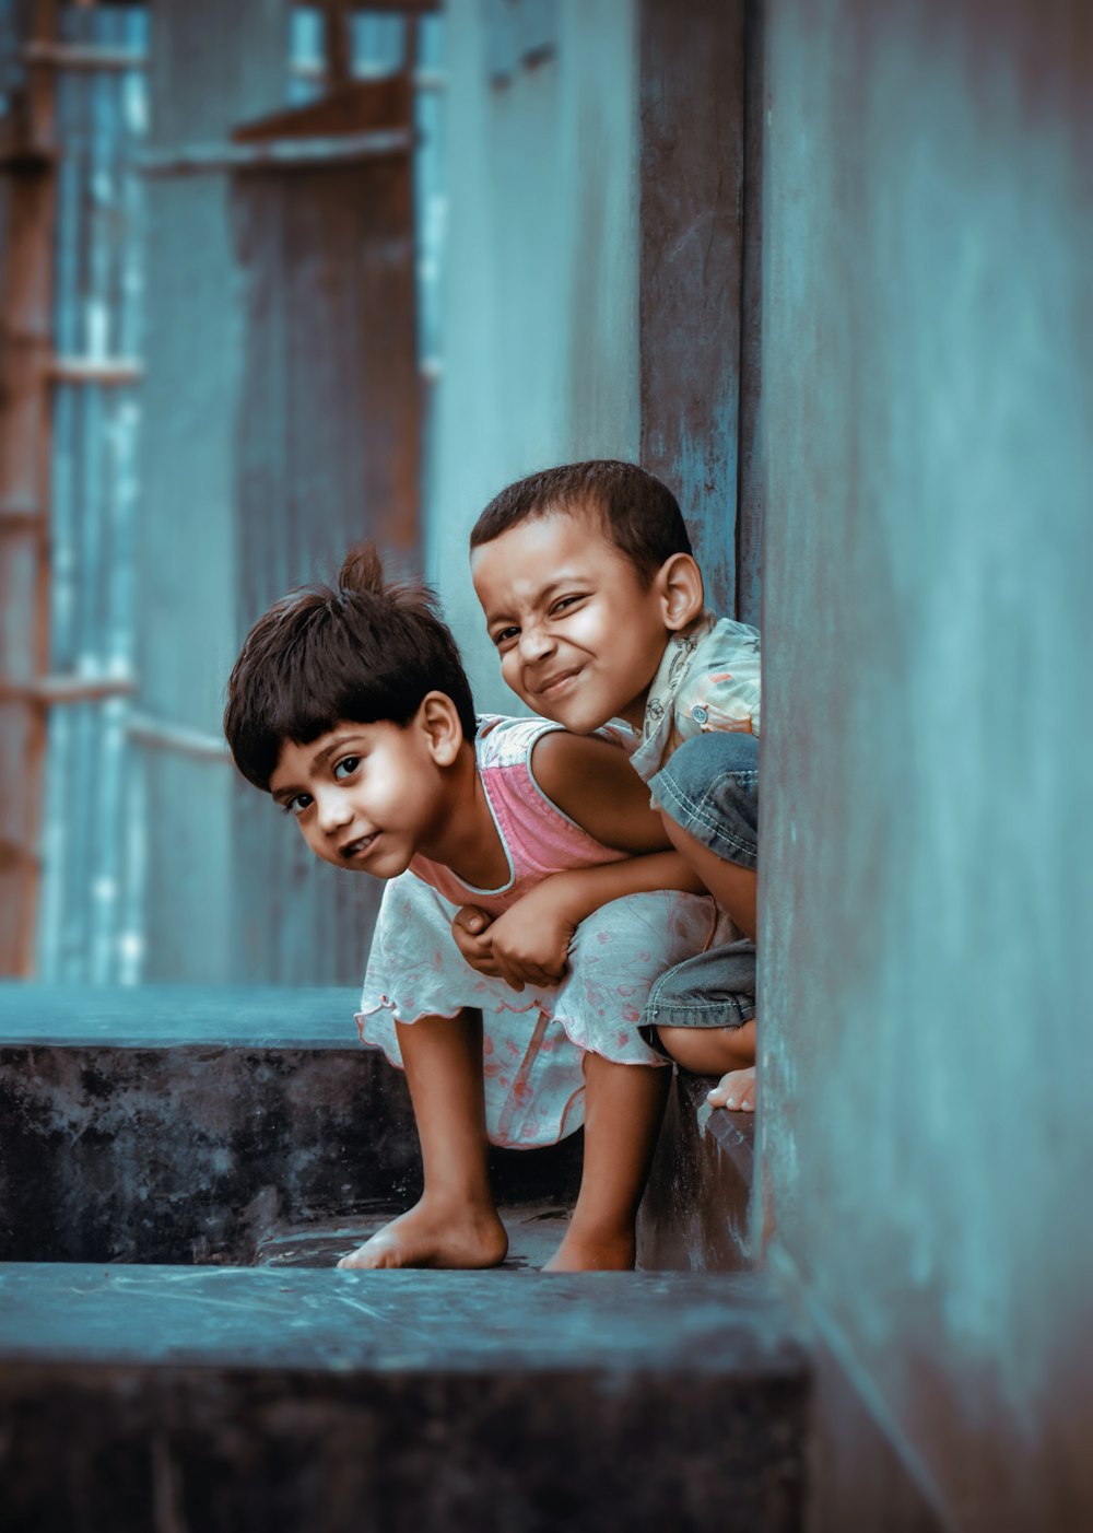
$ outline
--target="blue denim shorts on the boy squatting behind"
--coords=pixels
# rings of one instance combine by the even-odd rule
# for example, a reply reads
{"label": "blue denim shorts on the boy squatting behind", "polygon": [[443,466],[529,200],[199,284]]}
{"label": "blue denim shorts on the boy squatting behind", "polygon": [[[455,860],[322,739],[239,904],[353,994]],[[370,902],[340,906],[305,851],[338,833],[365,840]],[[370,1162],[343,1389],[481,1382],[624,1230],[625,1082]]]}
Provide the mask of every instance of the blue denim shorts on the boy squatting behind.
{"label": "blue denim shorts on the boy squatting behind", "polygon": [[[759,860],[759,740],[696,734],[648,783],[661,809],[742,868]],[[645,1027],[740,1027],[756,1015],[756,944],[747,938],[685,958],[653,984]]]}

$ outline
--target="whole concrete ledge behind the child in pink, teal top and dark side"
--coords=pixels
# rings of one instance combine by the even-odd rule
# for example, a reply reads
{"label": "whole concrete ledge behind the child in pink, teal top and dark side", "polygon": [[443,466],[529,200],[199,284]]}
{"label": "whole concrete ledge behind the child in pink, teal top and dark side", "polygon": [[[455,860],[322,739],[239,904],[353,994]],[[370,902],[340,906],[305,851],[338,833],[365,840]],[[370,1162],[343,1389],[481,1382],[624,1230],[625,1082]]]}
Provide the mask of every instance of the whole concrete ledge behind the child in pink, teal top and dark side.
{"label": "whole concrete ledge behind the child in pink, teal top and dark side", "polygon": [[[0,1257],[248,1262],[285,1222],[406,1206],[406,1082],[354,1036],[342,992],[2,987]],[[494,1151],[498,1197],[566,1202],[579,1159]]]}

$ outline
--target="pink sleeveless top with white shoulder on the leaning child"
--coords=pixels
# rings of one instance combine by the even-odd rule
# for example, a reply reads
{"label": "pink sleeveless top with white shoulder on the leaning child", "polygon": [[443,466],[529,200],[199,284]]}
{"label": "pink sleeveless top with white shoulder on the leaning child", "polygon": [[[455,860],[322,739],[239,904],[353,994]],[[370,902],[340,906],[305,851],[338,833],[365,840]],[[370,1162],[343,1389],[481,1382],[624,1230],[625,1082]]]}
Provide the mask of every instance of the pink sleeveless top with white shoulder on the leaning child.
{"label": "pink sleeveless top with white shoulder on the leaning child", "polygon": [[560,725],[547,719],[506,719],[483,714],[475,736],[478,776],[494,816],[509,881],[500,889],[475,889],[455,874],[417,855],[409,871],[432,885],[452,904],[477,904],[500,915],[537,883],[567,868],[596,868],[622,862],[625,852],[604,846],[547,799],[532,776],[535,742]]}

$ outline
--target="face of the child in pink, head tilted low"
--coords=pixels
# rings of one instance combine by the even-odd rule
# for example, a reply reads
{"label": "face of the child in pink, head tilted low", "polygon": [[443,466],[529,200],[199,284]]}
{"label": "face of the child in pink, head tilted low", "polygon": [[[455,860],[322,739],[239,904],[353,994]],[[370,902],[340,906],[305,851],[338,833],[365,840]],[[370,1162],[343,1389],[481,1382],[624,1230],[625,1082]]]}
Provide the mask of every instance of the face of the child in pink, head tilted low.
{"label": "face of the child in pink, head tilted low", "polygon": [[308,745],[285,740],[270,793],[316,857],[394,878],[446,820],[434,745],[422,710],[405,728],[339,724]]}

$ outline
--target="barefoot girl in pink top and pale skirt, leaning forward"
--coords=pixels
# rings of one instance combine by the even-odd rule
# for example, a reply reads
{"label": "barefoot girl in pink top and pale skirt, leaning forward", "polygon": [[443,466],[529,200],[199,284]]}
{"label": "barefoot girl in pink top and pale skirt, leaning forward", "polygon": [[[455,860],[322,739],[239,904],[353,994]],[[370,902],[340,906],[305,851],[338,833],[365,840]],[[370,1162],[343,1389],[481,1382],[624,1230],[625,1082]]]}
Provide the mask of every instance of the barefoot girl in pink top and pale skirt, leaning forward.
{"label": "barefoot girl in pink top and pale skirt, leaning forward", "polygon": [[[581,1190],[549,1265],[633,1266],[668,1079],[639,1018],[658,975],[707,946],[716,909],[682,892],[697,886],[624,751],[544,719],[477,721],[432,595],[386,584],[369,547],[336,587],[293,592],[258,621],[224,728],[317,857],[391,880],[357,1023],[406,1072],[423,1194],[340,1265],[503,1262],[487,1141],[530,1148],[584,1124]],[[596,914],[575,934],[556,892],[567,869],[592,868]],[[452,937],[466,904],[495,917],[484,973]],[[533,961],[529,920],[553,934]]]}

